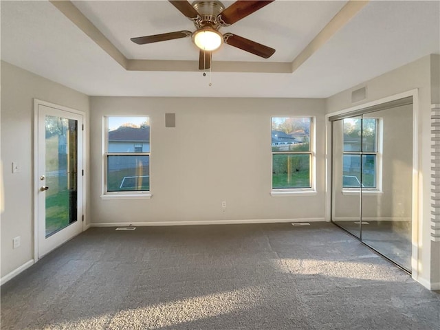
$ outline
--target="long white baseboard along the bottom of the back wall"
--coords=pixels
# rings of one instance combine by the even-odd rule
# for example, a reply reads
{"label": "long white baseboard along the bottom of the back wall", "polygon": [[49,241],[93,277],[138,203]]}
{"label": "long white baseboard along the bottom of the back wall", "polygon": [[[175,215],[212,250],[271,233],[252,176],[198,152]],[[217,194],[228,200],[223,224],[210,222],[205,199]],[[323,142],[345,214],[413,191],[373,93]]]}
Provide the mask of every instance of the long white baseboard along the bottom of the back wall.
{"label": "long white baseboard along the bottom of the back wall", "polygon": [[129,225],[158,226],[158,225],[234,225],[244,223],[285,223],[285,222],[323,222],[322,218],[300,219],[245,219],[245,220],[212,220],[212,221],[156,221],[156,222],[101,222],[90,223],[90,227],[128,227]]}

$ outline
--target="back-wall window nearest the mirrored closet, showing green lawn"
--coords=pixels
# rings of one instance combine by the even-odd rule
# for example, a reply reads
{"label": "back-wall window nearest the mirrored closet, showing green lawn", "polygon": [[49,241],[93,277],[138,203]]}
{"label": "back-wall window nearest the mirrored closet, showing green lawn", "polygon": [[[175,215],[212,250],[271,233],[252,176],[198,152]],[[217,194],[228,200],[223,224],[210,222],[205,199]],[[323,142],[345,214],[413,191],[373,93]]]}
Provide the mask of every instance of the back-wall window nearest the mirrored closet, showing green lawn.
{"label": "back-wall window nearest the mirrored closet, showing green lawn", "polygon": [[272,189],[311,188],[310,117],[272,117]]}

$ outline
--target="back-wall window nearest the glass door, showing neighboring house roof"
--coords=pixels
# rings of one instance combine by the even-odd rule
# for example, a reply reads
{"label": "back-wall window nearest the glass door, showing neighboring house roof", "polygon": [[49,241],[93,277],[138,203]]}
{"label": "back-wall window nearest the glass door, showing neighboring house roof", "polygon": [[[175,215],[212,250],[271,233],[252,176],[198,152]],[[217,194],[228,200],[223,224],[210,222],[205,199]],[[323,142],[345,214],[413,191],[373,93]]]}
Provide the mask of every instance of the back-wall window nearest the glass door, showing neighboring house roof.
{"label": "back-wall window nearest the glass door, showing neighboring house roof", "polygon": [[150,120],[107,117],[106,192],[150,190]]}

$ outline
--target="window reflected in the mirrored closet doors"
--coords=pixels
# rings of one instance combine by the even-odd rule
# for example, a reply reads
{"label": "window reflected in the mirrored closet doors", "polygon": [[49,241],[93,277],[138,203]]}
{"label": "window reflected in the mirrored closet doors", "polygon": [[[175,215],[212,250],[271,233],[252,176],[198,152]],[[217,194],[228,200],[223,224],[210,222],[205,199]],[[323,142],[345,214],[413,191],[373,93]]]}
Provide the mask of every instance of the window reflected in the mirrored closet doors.
{"label": "window reflected in the mirrored closet doors", "polygon": [[344,119],[343,188],[378,188],[378,123],[377,118]]}

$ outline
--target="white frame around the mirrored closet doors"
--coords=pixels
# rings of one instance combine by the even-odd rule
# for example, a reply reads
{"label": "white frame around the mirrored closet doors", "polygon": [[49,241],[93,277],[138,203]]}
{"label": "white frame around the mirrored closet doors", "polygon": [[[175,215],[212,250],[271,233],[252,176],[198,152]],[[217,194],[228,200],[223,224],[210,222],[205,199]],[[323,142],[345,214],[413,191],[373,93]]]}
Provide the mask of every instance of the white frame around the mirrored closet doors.
{"label": "white frame around the mirrored closet doors", "polygon": [[421,253],[421,245],[423,244],[423,237],[421,236],[422,217],[421,217],[421,187],[419,186],[419,89],[411,89],[399,94],[358,104],[355,107],[350,107],[340,111],[334,111],[325,115],[325,221],[331,221],[331,192],[333,169],[331,168],[331,159],[333,156],[332,150],[332,129],[329,117],[333,115],[340,115],[342,113],[349,113],[352,111],[372,107],[378,104],[399,100],[412,96],[412,254],[411,254],[411,277],[415,281],[419,281],[419,268]]}

